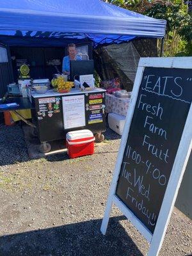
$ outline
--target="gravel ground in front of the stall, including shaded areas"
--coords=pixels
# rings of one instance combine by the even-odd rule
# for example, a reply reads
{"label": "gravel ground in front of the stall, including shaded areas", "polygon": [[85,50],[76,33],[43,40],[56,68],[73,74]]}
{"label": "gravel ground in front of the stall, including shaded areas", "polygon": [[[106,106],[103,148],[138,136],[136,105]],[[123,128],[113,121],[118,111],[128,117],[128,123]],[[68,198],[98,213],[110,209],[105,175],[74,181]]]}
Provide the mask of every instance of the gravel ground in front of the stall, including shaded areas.
{"label": "gravel ground in front of the stall, including shaded areas", "polygon": [[[147,255],[148,243],[113,207],[100,233],[120,136],[93,156],[29,160],[22,129],[0,127],[0,255]],[[160,256],[192,255],[192,223],[176,208]]]}

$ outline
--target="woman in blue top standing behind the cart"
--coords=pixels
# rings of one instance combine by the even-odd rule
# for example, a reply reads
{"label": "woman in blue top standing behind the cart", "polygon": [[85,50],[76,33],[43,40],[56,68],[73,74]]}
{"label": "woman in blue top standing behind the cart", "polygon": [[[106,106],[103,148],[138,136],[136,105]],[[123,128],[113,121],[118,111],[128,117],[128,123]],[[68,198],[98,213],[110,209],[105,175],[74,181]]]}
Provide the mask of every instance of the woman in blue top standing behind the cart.
{"label": "woman in blue top standing behind the cart", "polygon": [[68,44],[68,56],[63,58],[62,72],[63,74],[70,74],[70,60],[81,60],[81,56],[76,56],[77,49],[75,44]]}

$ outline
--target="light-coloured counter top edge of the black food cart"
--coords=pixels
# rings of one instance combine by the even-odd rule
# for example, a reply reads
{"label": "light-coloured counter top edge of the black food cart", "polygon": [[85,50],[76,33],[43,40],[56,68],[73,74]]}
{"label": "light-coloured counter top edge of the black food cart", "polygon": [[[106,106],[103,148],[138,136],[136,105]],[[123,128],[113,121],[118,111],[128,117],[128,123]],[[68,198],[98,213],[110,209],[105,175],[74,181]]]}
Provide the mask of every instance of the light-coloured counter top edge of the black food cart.
{"label": "light-coloured counter top edge of the black food cart", "polygon": [[82,94],[82,93],[93,93],[93,92],[106,92],[106,90],[104,90],[102,88],[94,88],[93,90],[90,90],[90,91],[80,91],[78,89],[72,89],[72,90],[70,90],[70,92],[67,92],[67,93],[59,93],[59,92],[54,92],[53,90],[49,90],[43,94],[32,92],[31,95],[33,98],[45,98],[45,97],[64,96],[64,95],[73,95],[73,94]]}

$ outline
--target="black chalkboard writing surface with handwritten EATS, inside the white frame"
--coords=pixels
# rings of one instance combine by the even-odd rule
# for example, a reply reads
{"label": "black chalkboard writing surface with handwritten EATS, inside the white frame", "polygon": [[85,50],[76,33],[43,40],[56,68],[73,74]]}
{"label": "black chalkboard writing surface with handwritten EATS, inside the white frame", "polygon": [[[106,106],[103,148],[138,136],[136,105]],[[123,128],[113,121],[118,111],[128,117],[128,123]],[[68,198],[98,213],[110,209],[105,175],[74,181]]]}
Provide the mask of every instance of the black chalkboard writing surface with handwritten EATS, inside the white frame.
{"label": "black chalkboard writing surface with handwritten EATS, inside the white frame", "polygon": [[153,234],[191,106],[191,69],[145,67],[115,195]]}

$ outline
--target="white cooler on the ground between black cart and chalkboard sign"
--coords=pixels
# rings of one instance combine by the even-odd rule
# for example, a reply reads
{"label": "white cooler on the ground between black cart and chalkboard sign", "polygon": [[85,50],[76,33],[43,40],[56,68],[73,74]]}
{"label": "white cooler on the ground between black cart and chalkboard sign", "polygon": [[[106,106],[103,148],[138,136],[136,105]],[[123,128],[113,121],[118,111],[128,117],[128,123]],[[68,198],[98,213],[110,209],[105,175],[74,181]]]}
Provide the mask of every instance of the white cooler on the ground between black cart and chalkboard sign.
{"label": "white cooler on the ground between black cart and chalkboard sign", "polygon": [[126,116],[118,115],[115,113],[109,113],[108,115],[109,128],[115,131],[116,133],[122,135],[124,131],[125,118]]}

